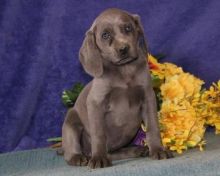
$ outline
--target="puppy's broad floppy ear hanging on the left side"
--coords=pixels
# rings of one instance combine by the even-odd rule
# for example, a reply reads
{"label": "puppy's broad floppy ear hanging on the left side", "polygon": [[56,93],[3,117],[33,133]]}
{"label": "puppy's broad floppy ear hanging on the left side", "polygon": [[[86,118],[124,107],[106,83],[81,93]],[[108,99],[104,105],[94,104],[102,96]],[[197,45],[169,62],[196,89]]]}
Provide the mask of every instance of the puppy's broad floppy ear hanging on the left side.
{"label": "puppy's broad floppy ear hanging on the left side", "polygon": [[84,70],[93,77],[103,73],[102,57],[95,42],[94,33],[89,30],[79,51],[79,60]]}

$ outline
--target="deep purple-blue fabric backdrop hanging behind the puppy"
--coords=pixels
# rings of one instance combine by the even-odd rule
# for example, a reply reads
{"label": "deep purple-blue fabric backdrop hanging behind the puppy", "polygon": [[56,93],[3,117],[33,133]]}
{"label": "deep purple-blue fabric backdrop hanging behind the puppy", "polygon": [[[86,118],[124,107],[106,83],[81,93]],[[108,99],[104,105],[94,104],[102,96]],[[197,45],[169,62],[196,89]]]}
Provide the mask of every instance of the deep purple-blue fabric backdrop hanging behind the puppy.
{"label": "deep purple-blue fabric backdrop hanging behind the puppy", "polygon": [[64,89],[88,82],[78,61],[85,31],[104,9],[141,16],[149,51],[204,79],[220,77],[219,0],[1,0],[0,152],[61,135]]}

